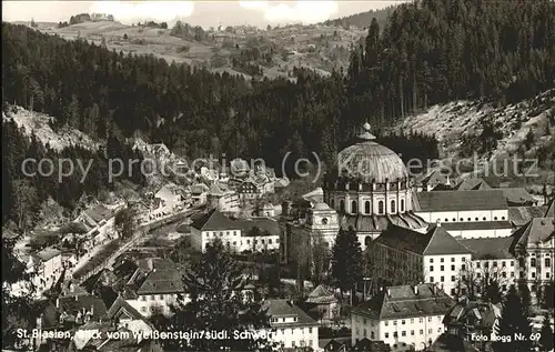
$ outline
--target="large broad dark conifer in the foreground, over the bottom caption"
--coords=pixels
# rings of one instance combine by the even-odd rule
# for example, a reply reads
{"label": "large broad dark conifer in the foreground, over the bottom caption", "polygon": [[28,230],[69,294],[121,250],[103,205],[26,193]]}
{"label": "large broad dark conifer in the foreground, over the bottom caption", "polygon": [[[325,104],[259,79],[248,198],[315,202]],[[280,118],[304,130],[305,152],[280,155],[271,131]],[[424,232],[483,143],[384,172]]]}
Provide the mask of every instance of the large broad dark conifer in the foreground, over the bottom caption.
{"label": "large broad dark conifer in the foreground, over the bottom caption", "polygon": [[[190,302],[181,298],[173,315],[159,318],[159,328],[176,331],[225,331],[226,339],[164,340],[165,350],[172,351],[271,351],[273,343],[265,338],[234,339],[234,332],[255,331],[270,326],[270,316],[260,300],[246,294],[250,276],[235,262],[231,253],[216,239],[183,275]],[[158,326],[157,326],[158,328]]]}

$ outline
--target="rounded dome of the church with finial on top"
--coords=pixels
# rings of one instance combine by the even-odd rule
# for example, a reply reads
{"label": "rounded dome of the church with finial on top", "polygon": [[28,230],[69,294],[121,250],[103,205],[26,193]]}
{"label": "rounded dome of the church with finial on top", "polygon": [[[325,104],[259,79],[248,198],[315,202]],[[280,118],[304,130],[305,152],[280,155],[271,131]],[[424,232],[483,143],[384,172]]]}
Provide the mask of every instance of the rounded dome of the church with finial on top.
{"label": "rounded dome of the church with finial on top", "polygon": [[364,124],[359,142],[343,149],[337,155],[337,172],[363,182],[385,183],[408,178],[403,160],[391,149],[376,143]]}

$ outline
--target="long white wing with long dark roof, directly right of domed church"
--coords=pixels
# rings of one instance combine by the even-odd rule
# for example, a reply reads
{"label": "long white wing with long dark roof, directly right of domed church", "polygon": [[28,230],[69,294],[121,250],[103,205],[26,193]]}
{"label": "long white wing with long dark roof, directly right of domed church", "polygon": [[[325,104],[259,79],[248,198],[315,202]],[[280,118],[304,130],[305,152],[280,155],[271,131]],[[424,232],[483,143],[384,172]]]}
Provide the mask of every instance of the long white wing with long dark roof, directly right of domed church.
{"label": "long white wing with long dark roof, directly right of domed church", "polygon": [[462,238],[508,237],[513,230],[502,190],[421,192],[414,197],[414,211]]}

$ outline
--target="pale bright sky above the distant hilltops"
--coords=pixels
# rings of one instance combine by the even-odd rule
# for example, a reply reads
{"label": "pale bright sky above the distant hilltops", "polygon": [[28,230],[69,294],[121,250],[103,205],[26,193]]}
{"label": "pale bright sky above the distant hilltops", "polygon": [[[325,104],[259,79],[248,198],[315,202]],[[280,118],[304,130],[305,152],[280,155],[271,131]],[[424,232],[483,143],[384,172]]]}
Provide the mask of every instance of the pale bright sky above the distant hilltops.
{"label": "pale bright sky above the distant hilltops", "polygon": [[131,24],[154,20],[183,20],[204,28],[222,26],[314,23],[354,13],[381,9],[401,0],[364,1],[2,1],[2,21],[59,22],[77,13],[110,13]]}

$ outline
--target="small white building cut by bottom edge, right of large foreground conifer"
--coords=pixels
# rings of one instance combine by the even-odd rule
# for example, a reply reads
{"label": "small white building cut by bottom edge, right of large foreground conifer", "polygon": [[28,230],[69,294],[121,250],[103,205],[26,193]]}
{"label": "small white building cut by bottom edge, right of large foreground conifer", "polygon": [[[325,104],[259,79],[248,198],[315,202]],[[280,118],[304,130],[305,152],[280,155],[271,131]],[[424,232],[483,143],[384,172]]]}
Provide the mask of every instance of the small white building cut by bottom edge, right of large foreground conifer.
{"label": "small white building cut by bottom edge, right of large foreground conifer", "polygon": [[287,300],[266,300],[263,309],[268,309],[272,340],[281,343],[283,349],[312,348],[319,350],[319,324],[293,302]]}

